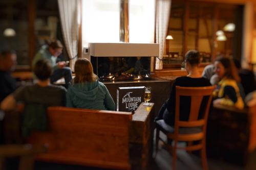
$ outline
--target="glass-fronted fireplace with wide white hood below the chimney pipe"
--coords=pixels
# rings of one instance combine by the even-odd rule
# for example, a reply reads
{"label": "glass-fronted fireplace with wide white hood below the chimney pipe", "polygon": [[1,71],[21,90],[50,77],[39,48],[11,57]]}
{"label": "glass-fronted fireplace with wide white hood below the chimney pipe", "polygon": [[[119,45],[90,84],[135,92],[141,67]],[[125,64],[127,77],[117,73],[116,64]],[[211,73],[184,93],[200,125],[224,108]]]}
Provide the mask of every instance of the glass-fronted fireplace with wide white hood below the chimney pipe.
{"label": "glass-fronted fireplace with wide white hood below the chimney pipe", "polygon": [[151,57],[159,56],[159,44],[90,43],[89,51],[100,81],[151,80]]}

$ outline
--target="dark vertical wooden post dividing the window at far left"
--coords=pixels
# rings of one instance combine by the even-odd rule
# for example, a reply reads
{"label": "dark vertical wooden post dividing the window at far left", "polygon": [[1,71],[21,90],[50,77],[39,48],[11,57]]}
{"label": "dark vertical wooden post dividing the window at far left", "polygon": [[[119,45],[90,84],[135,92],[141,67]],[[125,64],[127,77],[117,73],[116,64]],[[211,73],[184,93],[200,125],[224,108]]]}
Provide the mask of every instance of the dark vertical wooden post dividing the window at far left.
{"label": "dark vertical wooden post dividing the window at far left", "polygon": [[35,28],[34,28],[34,23],[35,23],[35,16],[36,16],[36,4],[34,0],[29,0],[28,3],[28,21],[29,21],[29,25],[28,25],[28,32],[29,32],[29,36],[28,36],[28,40],[29,40],[29,59],[30,59],[30,65],[32,64],[32,60],[34,58],[35,55]]}

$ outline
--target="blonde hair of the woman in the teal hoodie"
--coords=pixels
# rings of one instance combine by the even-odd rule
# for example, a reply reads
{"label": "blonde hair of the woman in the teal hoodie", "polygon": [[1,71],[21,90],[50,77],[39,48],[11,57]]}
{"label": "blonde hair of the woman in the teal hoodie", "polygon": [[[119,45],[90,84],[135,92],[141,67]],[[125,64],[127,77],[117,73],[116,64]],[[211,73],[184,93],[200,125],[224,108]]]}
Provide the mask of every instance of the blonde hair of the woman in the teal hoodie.
{"label": "blonde hair of the woman in the teal hoodie", "polygon": [[92,63],[86,59],[78,59],[75,63],[74,83],[95,82],[98,77],[93,72]]}

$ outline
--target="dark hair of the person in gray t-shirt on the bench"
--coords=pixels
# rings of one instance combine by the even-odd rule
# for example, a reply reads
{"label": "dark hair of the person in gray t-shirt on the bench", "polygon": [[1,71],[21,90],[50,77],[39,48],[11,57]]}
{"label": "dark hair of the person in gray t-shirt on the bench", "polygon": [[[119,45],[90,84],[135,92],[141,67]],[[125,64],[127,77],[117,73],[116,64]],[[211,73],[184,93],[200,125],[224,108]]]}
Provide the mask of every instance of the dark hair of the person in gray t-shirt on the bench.
{"label": "dark hair of the person in gray t-shirt on the bench", "polygon": [[39,80],[47,80],[52,74],[52,65],[48,60],[38,60],[33,71]]}

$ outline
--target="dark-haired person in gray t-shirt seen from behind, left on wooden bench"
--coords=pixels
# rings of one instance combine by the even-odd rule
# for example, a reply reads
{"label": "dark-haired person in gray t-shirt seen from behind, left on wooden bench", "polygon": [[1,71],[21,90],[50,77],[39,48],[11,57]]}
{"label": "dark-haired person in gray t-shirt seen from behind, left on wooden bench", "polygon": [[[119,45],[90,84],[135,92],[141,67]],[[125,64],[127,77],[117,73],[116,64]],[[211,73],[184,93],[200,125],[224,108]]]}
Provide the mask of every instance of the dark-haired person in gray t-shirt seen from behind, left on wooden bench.
{"label": "dark-haired person in gray t-shirt seen from behind, left on wooden bench", "polygon": [[11,111],[17,108],[17,103],[25,104],[22,123],[23,136],[28,136],[32,130],[46,130],[48,106],[65,106],[66,89],[50,84],[52,65],[47,60],[39,60],[33,68],[38,82],[34,85],[19,87],[1,103],[1,109]]}

